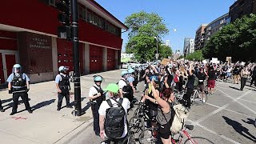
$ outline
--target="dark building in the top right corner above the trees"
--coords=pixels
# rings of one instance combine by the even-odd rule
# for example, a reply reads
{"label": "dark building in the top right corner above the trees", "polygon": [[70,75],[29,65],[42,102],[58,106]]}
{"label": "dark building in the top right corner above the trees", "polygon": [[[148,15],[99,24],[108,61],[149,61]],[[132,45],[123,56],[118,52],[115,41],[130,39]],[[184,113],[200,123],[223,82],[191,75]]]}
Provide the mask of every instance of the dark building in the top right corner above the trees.
{"label": "dark building in the top right corner above the trees", "polygon": [[237,18],[242,18],[243,15],[256,14],[256,1],[255,0],[238,0],[230,6],[231,22]]}

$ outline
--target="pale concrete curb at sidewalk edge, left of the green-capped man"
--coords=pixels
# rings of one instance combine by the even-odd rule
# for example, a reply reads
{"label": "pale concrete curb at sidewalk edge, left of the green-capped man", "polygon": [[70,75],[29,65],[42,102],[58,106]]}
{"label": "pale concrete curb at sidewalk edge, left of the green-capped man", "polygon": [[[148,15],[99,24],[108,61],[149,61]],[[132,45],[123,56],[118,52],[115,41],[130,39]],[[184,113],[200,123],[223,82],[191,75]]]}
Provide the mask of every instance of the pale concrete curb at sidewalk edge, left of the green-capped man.
{"label": "pale concrete curb at sidewalk edge, left of the green-capped man", "polygon": [[74,128],[74,130],[70,131],[62,138],[59,138],[58,141],[54,142],[54,144],[68,144],[72,139],[76,138],[79,134],[86,130],[88,126],[90,126],[90,124],[92,124],[93,122],[94,118],[90,118],[90,120],[87,122],[82,122],[81,125]]}

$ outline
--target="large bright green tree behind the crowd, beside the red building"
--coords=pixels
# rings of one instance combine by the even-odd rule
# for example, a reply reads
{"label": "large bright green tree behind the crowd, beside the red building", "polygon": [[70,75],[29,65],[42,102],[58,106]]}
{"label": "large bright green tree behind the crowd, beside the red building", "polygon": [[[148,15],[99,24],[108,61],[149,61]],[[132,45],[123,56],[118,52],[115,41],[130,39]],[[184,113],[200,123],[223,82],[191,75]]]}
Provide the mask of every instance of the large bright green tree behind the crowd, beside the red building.
{"label": "large bright green tree behind the crowd, beside the red building", "polygon": [[[126,53],[133,53],[138,61],[154,60],[154,50],[156,50],[157,45],[154,38],[158,39],[159,44],[161,38],[169,33],[163,18],[155,13],[149,14],[141,11],[128,16],[125,24],[129,27]],[[163,54],[163,56],[165,57],[166,55]]]}

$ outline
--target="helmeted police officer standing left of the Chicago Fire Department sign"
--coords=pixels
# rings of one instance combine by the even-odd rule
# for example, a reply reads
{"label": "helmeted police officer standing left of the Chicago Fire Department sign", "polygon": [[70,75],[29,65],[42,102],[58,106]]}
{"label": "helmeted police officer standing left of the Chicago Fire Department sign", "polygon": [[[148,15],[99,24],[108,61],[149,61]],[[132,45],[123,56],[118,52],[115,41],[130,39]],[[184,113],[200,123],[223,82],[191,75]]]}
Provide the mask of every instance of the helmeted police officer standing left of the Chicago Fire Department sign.
{"label": "helmeted police officer standing left of the Chicago Fire Department sign", "polygon": [[27,92],[30,90],[30,78],[28,78],[25,73],[22,73],[21,65],[15,64],[13,66],[13,73],[10,74],[7,82],[9,94],[13,94],[14,101],[13,110],[10,115],[17,113],[19,97],[22,98],[22,101],[26,106],[26,110],[31,114],[33,111],[31,110],[27,94]]}

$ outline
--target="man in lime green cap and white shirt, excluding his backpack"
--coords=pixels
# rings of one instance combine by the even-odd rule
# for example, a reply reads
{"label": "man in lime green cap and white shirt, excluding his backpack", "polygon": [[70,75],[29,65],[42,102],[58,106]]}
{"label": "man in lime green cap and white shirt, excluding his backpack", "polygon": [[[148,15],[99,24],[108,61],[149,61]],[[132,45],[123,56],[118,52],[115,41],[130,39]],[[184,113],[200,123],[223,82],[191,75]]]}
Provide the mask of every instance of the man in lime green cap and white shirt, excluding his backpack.
{"label": "man in lime green cap and white shirt, excluding his backpack", "polygon": [[[105,126],[104,122],[105,122],[105,118],[106,118],[106,110],[110,108],[110,105],[108,104],[107,101],[110,101],[114,107],[115,106],[117,107],[118,106],[117,102],[120,102],[119,100],[121,99],[121,95],[119,94],[119,87],[115,83],[110,83],[106,87],[106,89],[103,89],[103,90],[106,91],[110,95],[110,99],[106,100],[106,101],[103,101],[101,106],[99,107],[99,110],[98,110],[100,136],[101,136],[102,139],[106,140],[105,141],[106,144],[109,144],[110,142],[126,143],[126,142],[124,142],[126,140],[126,136],[127,136],[127,133],[128,133],[128,126],[127,126],[127,123],[126,123],[126,119],[125,119],[125,122],[124,122],[125,129],[124,129],[124,132],[123,132],[121,138],[116,138],[116,139],[106,138],[105,129],[104,129],[104,126]],[[127,98],[122,98],[122,107],[126,111],[126,114],[127,114],[127,110],[130,109],[130,101]]]}

